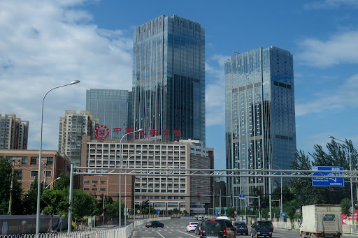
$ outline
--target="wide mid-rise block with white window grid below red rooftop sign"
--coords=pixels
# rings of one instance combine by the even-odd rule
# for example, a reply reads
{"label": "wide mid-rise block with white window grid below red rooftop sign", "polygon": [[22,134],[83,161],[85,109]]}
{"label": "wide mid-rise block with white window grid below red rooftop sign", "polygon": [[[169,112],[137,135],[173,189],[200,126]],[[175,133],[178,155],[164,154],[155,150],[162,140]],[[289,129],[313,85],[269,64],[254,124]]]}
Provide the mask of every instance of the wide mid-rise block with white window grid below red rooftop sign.
{"label": "wide mid-rise block with white window grid below red rooftop sign", "polygon": [[[129,209],[140,209],[142,202],[148,201],[151,207],[165,211],[175,208],[190,214],[208,211],[212,178],[185,176],[185,170],[180,170],[213,167],[213,152],[210,153],[213,150],[202,147],[199,141],[153,143],[135,140],[120,144],[115,140],[83,137],[82,151],[82,166],[91,167],[91,172],[103,172],[83,176],[84,191],[97,198],[103,194],[118,199],[121,181],[121,199],[127,202]],[[119,175],[110,173],[117,173],[116,168],[121,164],[128,168],[125,172],[131,174],[122,175],[120,179]],[[143,174],[139,174],[140,171]]]}

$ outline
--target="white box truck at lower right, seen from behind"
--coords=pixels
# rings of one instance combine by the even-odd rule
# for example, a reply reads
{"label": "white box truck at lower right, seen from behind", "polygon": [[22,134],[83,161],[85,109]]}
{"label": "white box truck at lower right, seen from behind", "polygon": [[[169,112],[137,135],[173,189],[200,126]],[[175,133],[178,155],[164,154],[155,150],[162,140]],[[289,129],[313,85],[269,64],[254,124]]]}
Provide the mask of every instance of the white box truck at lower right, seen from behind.
{"label": "white box truck at lower right, seen from behind", "polygon": [[302,207],[302,238],[341,237],[342,207],[340,205],[309,205]]}

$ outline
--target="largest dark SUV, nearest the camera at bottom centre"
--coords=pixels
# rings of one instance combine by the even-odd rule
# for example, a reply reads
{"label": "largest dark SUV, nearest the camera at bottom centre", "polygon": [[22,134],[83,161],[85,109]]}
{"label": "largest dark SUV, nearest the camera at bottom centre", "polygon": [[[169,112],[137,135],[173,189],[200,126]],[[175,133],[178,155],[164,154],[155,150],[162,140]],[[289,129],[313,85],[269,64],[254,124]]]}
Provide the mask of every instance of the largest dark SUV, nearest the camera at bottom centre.
{"label": "largest dark SUV, nearest the camera at bottom centre", "polygon": [[201,223],[200,238],[235,238],[234,227],[229,220],[208,220]]}

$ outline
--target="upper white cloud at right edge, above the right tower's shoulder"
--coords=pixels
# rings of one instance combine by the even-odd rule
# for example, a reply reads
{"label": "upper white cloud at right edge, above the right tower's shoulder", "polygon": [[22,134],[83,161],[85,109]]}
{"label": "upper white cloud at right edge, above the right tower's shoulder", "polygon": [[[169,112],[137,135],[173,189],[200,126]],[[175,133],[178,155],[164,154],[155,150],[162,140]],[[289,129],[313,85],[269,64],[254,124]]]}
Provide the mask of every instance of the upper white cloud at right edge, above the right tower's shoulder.
{"label": "upper white cloud at right edge, above the right tower's shoulder", "polygon": [[301,52],[296,54],[300,64],[309,66],[332,66],[358,63],[358,31],[337,33],[329,40],[306,38],[301,40]]}

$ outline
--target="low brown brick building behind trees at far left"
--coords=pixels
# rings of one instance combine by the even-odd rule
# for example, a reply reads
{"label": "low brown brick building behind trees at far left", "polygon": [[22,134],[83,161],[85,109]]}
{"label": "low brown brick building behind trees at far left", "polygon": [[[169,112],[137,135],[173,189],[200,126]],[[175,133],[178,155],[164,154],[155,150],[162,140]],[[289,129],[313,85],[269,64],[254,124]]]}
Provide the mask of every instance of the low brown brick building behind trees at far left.
{"label": "low brown brick building behind trees at far left", "polygon": [[[27,193],[38,175],[39,151],[27,149],[0,149],[0,157],[8,158],[14,166],[14,173],[22,183],[22,191]],[[57,151],[41,151],[41,182],[52,188],[54,181],[64,172],[69,174],[69,159]],[[77,181],[77,180],[76,180]],[[76,182],[77,184],[77,182]],[[75,188],[78,185],[75,185]]]}

